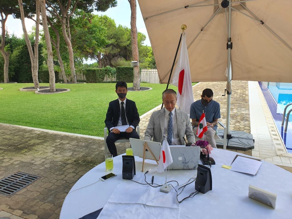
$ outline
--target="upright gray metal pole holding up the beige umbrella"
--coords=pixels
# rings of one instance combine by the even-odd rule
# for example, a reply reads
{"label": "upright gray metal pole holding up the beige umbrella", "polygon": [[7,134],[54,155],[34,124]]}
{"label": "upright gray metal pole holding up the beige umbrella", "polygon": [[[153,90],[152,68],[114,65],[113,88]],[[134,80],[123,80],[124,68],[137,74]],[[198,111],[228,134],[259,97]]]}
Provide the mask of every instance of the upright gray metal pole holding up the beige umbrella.
{"label": "upright gray metal pole holding up the beige umbrella", "polygon": [[[228,49],[228,64],[227,64],[227,83],[230,82],[231,88],[231,72],[230,72],[230,61],[231,61],[231,49],[232,49],[232,42],[231,42],[231,8],[228,7],[228,42],[227,42],[227,49]],[[227,136],[231,137],[230,134],[230,103],[231,103],[231,93],[227,91],[227,112],[226,112],[226,127],[227,127]]]}

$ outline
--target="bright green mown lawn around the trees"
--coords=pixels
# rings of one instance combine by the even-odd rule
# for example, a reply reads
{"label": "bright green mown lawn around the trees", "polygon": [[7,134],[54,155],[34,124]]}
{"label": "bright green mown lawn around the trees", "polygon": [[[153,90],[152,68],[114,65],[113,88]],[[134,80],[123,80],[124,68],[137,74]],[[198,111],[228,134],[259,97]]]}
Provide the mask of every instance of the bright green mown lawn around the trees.
{"label": "bright green mown lawn around the trees", "polygon": [[[56,84],[56,88],[71,91],[50,95],[19,91],[29,86],[33,84],[0,84],[4,88],[0,90],[0,123],[102,137],[108,103],[118,98],[115,84]],[[128,92],[127,98],[136,102],[142,115],[161,104],[166,84],[141,83],[140,86],[153,89]],[[177,90],[172,85],[169,88]]]}

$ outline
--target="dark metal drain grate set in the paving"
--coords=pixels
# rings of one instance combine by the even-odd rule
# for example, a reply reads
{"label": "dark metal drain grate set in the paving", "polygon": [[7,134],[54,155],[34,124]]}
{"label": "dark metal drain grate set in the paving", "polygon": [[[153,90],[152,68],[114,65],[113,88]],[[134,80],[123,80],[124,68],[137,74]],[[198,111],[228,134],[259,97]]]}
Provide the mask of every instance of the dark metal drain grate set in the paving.
{"label": "dark metal drain grate set in the paving", "polygon": [[9,175],[0,180],[0,194],[11,196],[39,178],[40,176],[22,172]]}

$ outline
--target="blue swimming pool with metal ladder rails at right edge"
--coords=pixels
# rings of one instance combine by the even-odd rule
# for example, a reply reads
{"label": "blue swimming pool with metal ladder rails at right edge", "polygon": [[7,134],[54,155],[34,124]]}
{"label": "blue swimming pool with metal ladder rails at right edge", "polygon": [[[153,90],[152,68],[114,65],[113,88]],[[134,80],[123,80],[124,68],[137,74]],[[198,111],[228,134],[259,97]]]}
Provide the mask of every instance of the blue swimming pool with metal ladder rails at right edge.
{"label": "blue swimming pool with metal ladder rails at right edge", "polygon": [[[292,83],[259,82],[259,84],[284,145],[288,153],[292,153],[292,112],[289,117],[287,132],[284,132],[286,119],[284,127],[281,126],[284,108],[292,103]],[[292,109],[292,105],[287,107],[285,117],[290,109]]]}

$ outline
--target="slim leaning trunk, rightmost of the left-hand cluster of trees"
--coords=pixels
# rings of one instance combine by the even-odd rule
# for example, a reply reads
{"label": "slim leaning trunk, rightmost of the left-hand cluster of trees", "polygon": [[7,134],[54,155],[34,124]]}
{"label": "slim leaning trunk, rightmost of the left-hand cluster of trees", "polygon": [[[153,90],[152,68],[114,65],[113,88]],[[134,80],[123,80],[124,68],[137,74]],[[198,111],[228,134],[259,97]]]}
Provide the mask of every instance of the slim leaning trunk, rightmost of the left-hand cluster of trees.
{"label": "slim leaning trunk, rightmost of the left-hand cluster of trees", "polygon": [[[77,84],[75,66],[74,66],[73,48],[72,48],[71,40],[69,39],[70,32],[67,33],[66,29],[67,29],[67,27],[66,27],[66,15],[63,14],[62,15],[62,33],[63,33],[64,39],[65,39],[66,45],[68,47],[69,64],[70,64],[72,82],[73,82],[73,84]],[[68,27],[68,31],[70,31],[69,27]]]}

